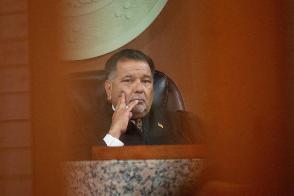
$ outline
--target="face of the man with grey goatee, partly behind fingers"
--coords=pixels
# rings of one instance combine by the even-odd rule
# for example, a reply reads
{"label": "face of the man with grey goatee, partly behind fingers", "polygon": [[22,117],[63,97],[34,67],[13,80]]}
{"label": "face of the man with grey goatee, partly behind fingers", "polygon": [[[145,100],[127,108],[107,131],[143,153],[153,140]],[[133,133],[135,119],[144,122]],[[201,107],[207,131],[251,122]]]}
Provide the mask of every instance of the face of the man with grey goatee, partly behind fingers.
{"label": "face of the man with grey goatee, partly behind fingers", "polygon": [[153,79],[150,67],[145,61],[119,61],[115,78],[106,81],[107,100],[116,107],[119,97],[124,92],[126,104],[132,100],[139,103],[131,111],[132,119],[144,117],[150,110],[153,101]]}

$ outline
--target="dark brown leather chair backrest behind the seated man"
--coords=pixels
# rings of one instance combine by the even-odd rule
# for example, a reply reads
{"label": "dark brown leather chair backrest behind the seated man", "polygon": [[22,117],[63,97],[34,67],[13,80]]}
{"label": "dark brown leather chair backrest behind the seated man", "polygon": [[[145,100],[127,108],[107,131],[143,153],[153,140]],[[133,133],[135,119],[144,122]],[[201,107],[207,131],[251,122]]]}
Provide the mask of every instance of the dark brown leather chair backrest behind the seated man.
{"label": "dark brown leather chair backrest behind the seated man", "polygon": [[[105,70],[92,70],[71,74],[67,93],[82,124],[86,124],[100,108],[107,104],[104,82]],[[155,71],[153,104],[171,111],[186,111],[183,96],[169,77]]]}

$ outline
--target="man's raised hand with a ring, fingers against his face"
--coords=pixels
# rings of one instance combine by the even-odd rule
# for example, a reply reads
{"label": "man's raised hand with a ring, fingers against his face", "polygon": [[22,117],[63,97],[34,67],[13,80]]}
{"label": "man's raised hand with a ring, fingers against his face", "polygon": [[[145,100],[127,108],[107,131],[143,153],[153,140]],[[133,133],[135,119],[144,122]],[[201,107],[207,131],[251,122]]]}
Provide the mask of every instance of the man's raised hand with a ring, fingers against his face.
{"label": "man's raised hand with a ring, fingers against his face", "polygon": [[115,107],[115,112],[112,115],[111,126],[108,134],[119,139],[120,135],[126,131],[129,120],[132,118],[133,113],[131,110],[137,104],[138,100],[133,100],[126,105],[126,95],[125,93],[122,94]]}

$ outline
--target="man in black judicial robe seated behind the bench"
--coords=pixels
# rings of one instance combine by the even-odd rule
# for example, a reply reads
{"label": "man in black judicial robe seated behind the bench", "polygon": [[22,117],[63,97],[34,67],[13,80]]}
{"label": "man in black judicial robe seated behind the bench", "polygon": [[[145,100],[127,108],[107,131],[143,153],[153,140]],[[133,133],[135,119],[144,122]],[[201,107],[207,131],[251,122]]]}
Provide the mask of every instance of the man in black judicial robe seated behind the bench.
{"label": "man in black judicial robe seated behind the bench", "polygon": [[105,65],[109,104],[81,126],[76,142],[78,159],[90,159],[95,145],[196,144],[202,141],[198,124],[185,112],[152,104],[152,59],[141,51],[124,49]]}

